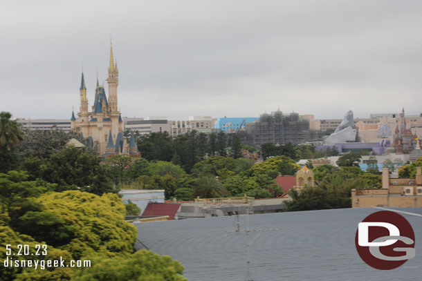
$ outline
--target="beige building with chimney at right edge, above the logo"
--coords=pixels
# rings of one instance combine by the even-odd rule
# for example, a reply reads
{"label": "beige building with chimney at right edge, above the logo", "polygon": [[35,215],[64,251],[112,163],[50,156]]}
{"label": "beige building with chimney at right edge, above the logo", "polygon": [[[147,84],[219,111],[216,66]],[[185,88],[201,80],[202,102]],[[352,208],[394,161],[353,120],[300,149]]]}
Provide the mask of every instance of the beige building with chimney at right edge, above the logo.
{"label": "beige building with chimney at right edge, above the logo", "polygon": [[352,189],[351,206],[367,208],[384,207],[422,207],[422,174],[417,167],[416,178],[389,178],[388,168],[383,168],[383,188]]}

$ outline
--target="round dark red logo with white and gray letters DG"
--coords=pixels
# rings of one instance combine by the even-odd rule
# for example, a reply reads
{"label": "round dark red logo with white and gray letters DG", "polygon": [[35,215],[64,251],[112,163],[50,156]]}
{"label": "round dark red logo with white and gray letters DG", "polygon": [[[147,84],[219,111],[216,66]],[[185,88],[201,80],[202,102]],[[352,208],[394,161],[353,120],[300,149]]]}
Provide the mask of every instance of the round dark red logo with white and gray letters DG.
{"label": "round dark red logo with white and gray letters DG", "polygon": [[375,269],[395,269],[414,258],[414,232],[398,213],[379,211],[358,224],[355,244],[360,258]]}

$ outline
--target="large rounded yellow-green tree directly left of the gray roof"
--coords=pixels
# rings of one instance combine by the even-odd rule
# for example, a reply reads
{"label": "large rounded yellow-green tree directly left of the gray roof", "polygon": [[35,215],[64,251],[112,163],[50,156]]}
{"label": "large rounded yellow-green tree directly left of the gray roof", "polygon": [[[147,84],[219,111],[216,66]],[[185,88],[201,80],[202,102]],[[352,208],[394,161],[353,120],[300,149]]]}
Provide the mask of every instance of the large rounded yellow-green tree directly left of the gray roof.
{"label": "large rounded yellow-green tree directly left of the gray roof", "polygon": [[[124,255],[132,253],[136,227],[125,222],[126,209],[118,195],[101,197],[81,191],[46,193],[37,198],[44,211],[53,213],[73,226],[71,240],[59,246],[80,259],[88,255]],[[42,227],[42,226],[39,226]]]}

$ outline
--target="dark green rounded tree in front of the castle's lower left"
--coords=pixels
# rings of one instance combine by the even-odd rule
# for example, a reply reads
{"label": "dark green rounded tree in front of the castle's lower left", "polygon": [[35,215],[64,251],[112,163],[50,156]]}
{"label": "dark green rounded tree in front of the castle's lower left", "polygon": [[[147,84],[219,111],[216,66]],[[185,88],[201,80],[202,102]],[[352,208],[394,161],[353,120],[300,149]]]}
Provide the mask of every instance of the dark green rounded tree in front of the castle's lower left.
{"label": "dark green rounded tree in front of the castle's lower left", "polygon": [[97,195],[116,191],[101,158],[74,146],[63,148],[46,159],[41,175],[43,180],[57,184],[55,191],[80,189]]}

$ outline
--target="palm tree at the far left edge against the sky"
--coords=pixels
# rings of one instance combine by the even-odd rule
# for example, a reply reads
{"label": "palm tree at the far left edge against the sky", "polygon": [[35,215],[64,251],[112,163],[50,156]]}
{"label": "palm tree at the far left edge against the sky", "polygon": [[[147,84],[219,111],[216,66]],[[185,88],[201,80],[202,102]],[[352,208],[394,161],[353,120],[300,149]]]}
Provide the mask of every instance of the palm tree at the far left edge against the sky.
{"label": "palm tree at the far left edge against the sky", "polygon": [[24,139],[24,133],[19,128],[21,125],[15,120],[10,120],[10,117],[12,115],[8,112],[0,113],[0,148],[6,148],[8,151]]}

